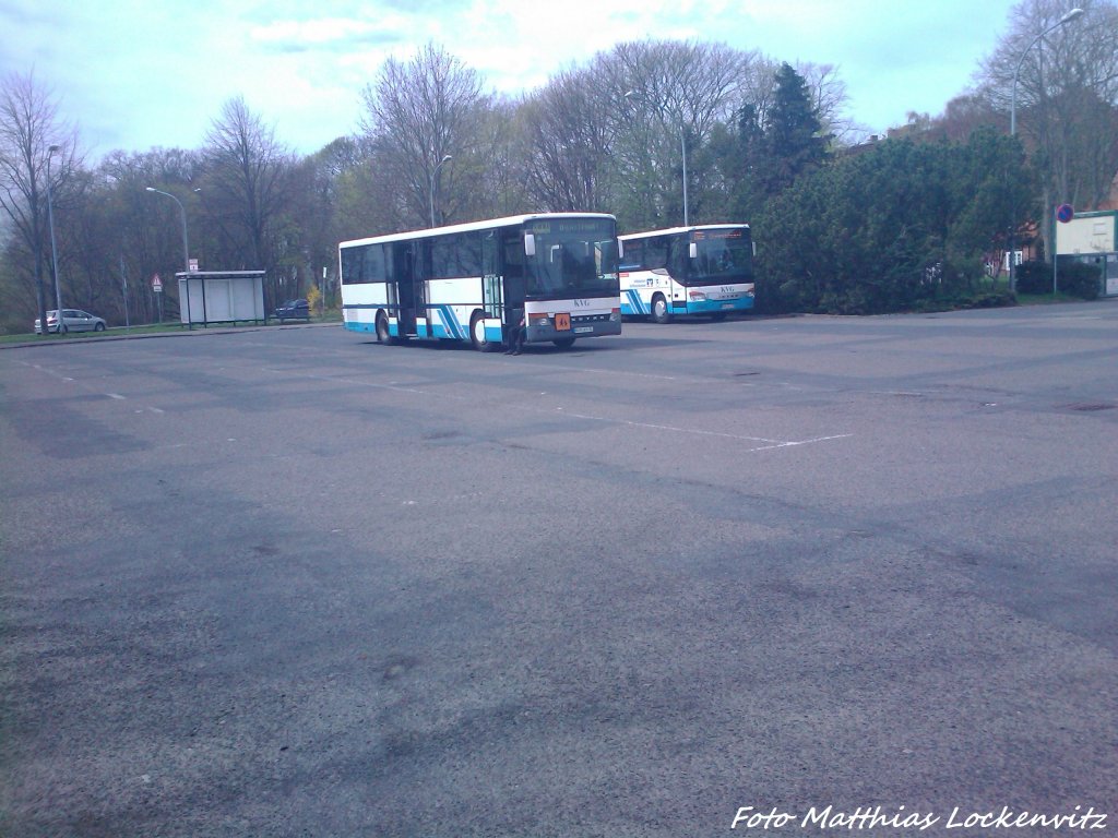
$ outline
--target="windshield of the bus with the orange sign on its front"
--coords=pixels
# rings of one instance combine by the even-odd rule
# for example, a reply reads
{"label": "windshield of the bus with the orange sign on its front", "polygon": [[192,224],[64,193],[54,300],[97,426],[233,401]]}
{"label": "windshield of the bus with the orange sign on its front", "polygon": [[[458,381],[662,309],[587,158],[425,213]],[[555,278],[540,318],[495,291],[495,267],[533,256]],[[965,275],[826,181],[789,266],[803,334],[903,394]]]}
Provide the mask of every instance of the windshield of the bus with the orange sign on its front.
{"label": "windshield of the bus with the orange sign on its front", "polygon": [[610,221],[531,221],[534,255],[528,256],[529,296],[618,294],[617,245]]}

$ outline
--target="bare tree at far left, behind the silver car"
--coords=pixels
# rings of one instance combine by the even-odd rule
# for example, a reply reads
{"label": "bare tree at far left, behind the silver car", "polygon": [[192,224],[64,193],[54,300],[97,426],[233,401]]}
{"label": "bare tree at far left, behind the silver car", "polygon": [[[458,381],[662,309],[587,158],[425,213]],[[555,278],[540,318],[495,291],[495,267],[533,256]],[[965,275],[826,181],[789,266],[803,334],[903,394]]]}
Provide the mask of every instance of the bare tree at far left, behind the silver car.
{"label": "bare tree at far left, behind the silver car", "polygon": [[[77,135],[58,120],[53,92],[34,72],[11,74],[0,85],[0,208],[34,257],[36,307],[44,330],[47,299],[42,282],[50,242],[47,200],[79,164]],[[51,169],[51,159],[57,163]],[[49,180],[48,180],[49,174]],[[61,279],[55,277],[55,282]],[[59,293],[60,296],[60,293]]]}

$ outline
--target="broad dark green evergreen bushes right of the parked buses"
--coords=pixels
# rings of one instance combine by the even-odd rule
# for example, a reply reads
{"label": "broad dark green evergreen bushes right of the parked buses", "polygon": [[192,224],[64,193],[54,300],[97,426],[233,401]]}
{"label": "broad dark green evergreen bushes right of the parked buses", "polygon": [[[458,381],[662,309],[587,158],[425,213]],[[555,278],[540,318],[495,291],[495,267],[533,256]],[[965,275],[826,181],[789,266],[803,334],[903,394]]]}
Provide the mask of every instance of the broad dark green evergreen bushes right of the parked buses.
{"label": "broad dark green evergreen bushes right of the parked buses", "polygon": [[750,219],[758,305],[871,314],[986,304],[985,263],[1001,261],[1005,219],[1031,189],[1021,144],[994,131],[966,143],[887,140],[819,166]]}

